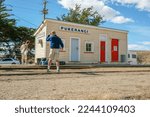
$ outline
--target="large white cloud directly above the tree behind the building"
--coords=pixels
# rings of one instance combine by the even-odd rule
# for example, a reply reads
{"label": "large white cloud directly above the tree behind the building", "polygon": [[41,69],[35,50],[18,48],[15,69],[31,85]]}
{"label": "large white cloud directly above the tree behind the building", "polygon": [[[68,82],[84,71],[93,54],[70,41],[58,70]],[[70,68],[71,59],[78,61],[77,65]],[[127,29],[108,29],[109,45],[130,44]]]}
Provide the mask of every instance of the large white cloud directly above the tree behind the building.
{"label": "large white cloud directly above the tree behind the building", "polygon": [[58,0],[58,3],[66,9],[74,8],[76,4],[80,4],[82,9],[93,6],[93,10],[103,16],[106,21],[119,24],[133,22],[132,19],[122,16],[119,11],[107,6],[106,2],[108,0]]}

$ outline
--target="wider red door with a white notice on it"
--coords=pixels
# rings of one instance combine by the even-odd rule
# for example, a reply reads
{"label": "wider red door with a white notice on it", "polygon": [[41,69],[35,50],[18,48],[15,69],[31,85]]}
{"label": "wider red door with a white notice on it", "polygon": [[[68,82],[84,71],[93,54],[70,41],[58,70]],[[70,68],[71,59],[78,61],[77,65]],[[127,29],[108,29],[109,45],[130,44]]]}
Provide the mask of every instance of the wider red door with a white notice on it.
{"label": "wider red door with a white notice on it", "polygon": [[111,41],[111,61],[118,62],[118,39]]}

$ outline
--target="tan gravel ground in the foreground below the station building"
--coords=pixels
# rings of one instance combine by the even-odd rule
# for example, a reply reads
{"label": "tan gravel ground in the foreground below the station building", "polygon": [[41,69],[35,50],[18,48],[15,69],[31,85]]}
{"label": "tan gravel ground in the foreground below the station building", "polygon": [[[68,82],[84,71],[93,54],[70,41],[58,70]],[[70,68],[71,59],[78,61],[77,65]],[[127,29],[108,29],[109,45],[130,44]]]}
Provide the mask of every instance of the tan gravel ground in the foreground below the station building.
{"label": "tan gravel ground in the foreground below the station building", "polygon": [[150,68],[0,70],[0,99],[150,99]]}

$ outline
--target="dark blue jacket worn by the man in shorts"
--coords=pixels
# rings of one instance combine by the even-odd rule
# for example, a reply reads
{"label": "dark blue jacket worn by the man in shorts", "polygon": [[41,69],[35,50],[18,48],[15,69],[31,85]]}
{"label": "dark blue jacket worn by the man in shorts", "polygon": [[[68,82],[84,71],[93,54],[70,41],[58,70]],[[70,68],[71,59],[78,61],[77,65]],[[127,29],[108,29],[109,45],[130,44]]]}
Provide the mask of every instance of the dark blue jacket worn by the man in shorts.
{"label": "dark blue jacket worn by the man in shorts", "polygon": [[50,41],[50,48],[59,49],[60,46],[61,48],[64,48],[62,40],[57,35],[53,36],[48,35],[46,41]]}

